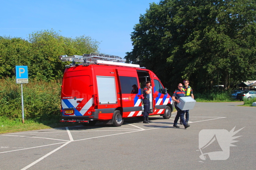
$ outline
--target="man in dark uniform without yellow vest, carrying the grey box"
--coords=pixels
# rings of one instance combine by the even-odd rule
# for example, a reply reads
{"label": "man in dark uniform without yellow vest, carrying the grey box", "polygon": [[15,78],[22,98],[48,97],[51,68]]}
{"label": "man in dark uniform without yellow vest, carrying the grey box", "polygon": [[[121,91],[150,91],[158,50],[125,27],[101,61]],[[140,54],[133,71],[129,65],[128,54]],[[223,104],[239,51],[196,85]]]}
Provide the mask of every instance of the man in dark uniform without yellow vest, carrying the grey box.
{"label": "man in dark uniform without yellow vest, carrying the grey box", "polygon": [[180,118],[185,129],[187,129],[190,125],[185,122],[185,119],[184,119],[185,110],[181,110],[180,108],[177,107],[177,104],[180,103],[179,99],[181,97],[185,97],[185,92],[182,90],[182,84],[180,83],[180,84],[178,84],[178,90],[174,91],[173,96],[172,96],[172,100],[175,102],[174,106],[177,110],[177,115],[174,119],[173,127],[180,127],[177,125],[178,119]]}

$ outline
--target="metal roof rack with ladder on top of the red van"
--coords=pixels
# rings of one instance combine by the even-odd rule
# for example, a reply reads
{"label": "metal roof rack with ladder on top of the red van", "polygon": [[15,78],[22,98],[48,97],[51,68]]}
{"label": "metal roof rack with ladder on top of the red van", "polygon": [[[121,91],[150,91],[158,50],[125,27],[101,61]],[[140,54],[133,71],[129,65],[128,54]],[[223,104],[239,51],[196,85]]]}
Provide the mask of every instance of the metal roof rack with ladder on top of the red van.
{"label": "metal roof rack with ladder on top of the red van", "polygon": [[105,64],[105,65],[115,65],[115,66],[127,66],[127,67],[140,67],[138,64],[128,64],[125,63],[125,59],[122,59],[116,55],[90,53],[81,55],[61,55],[60,60],[62,62],[72,62],[66,67],[78,66],[81,64],[75,64],[75,62],[82,64]]}

